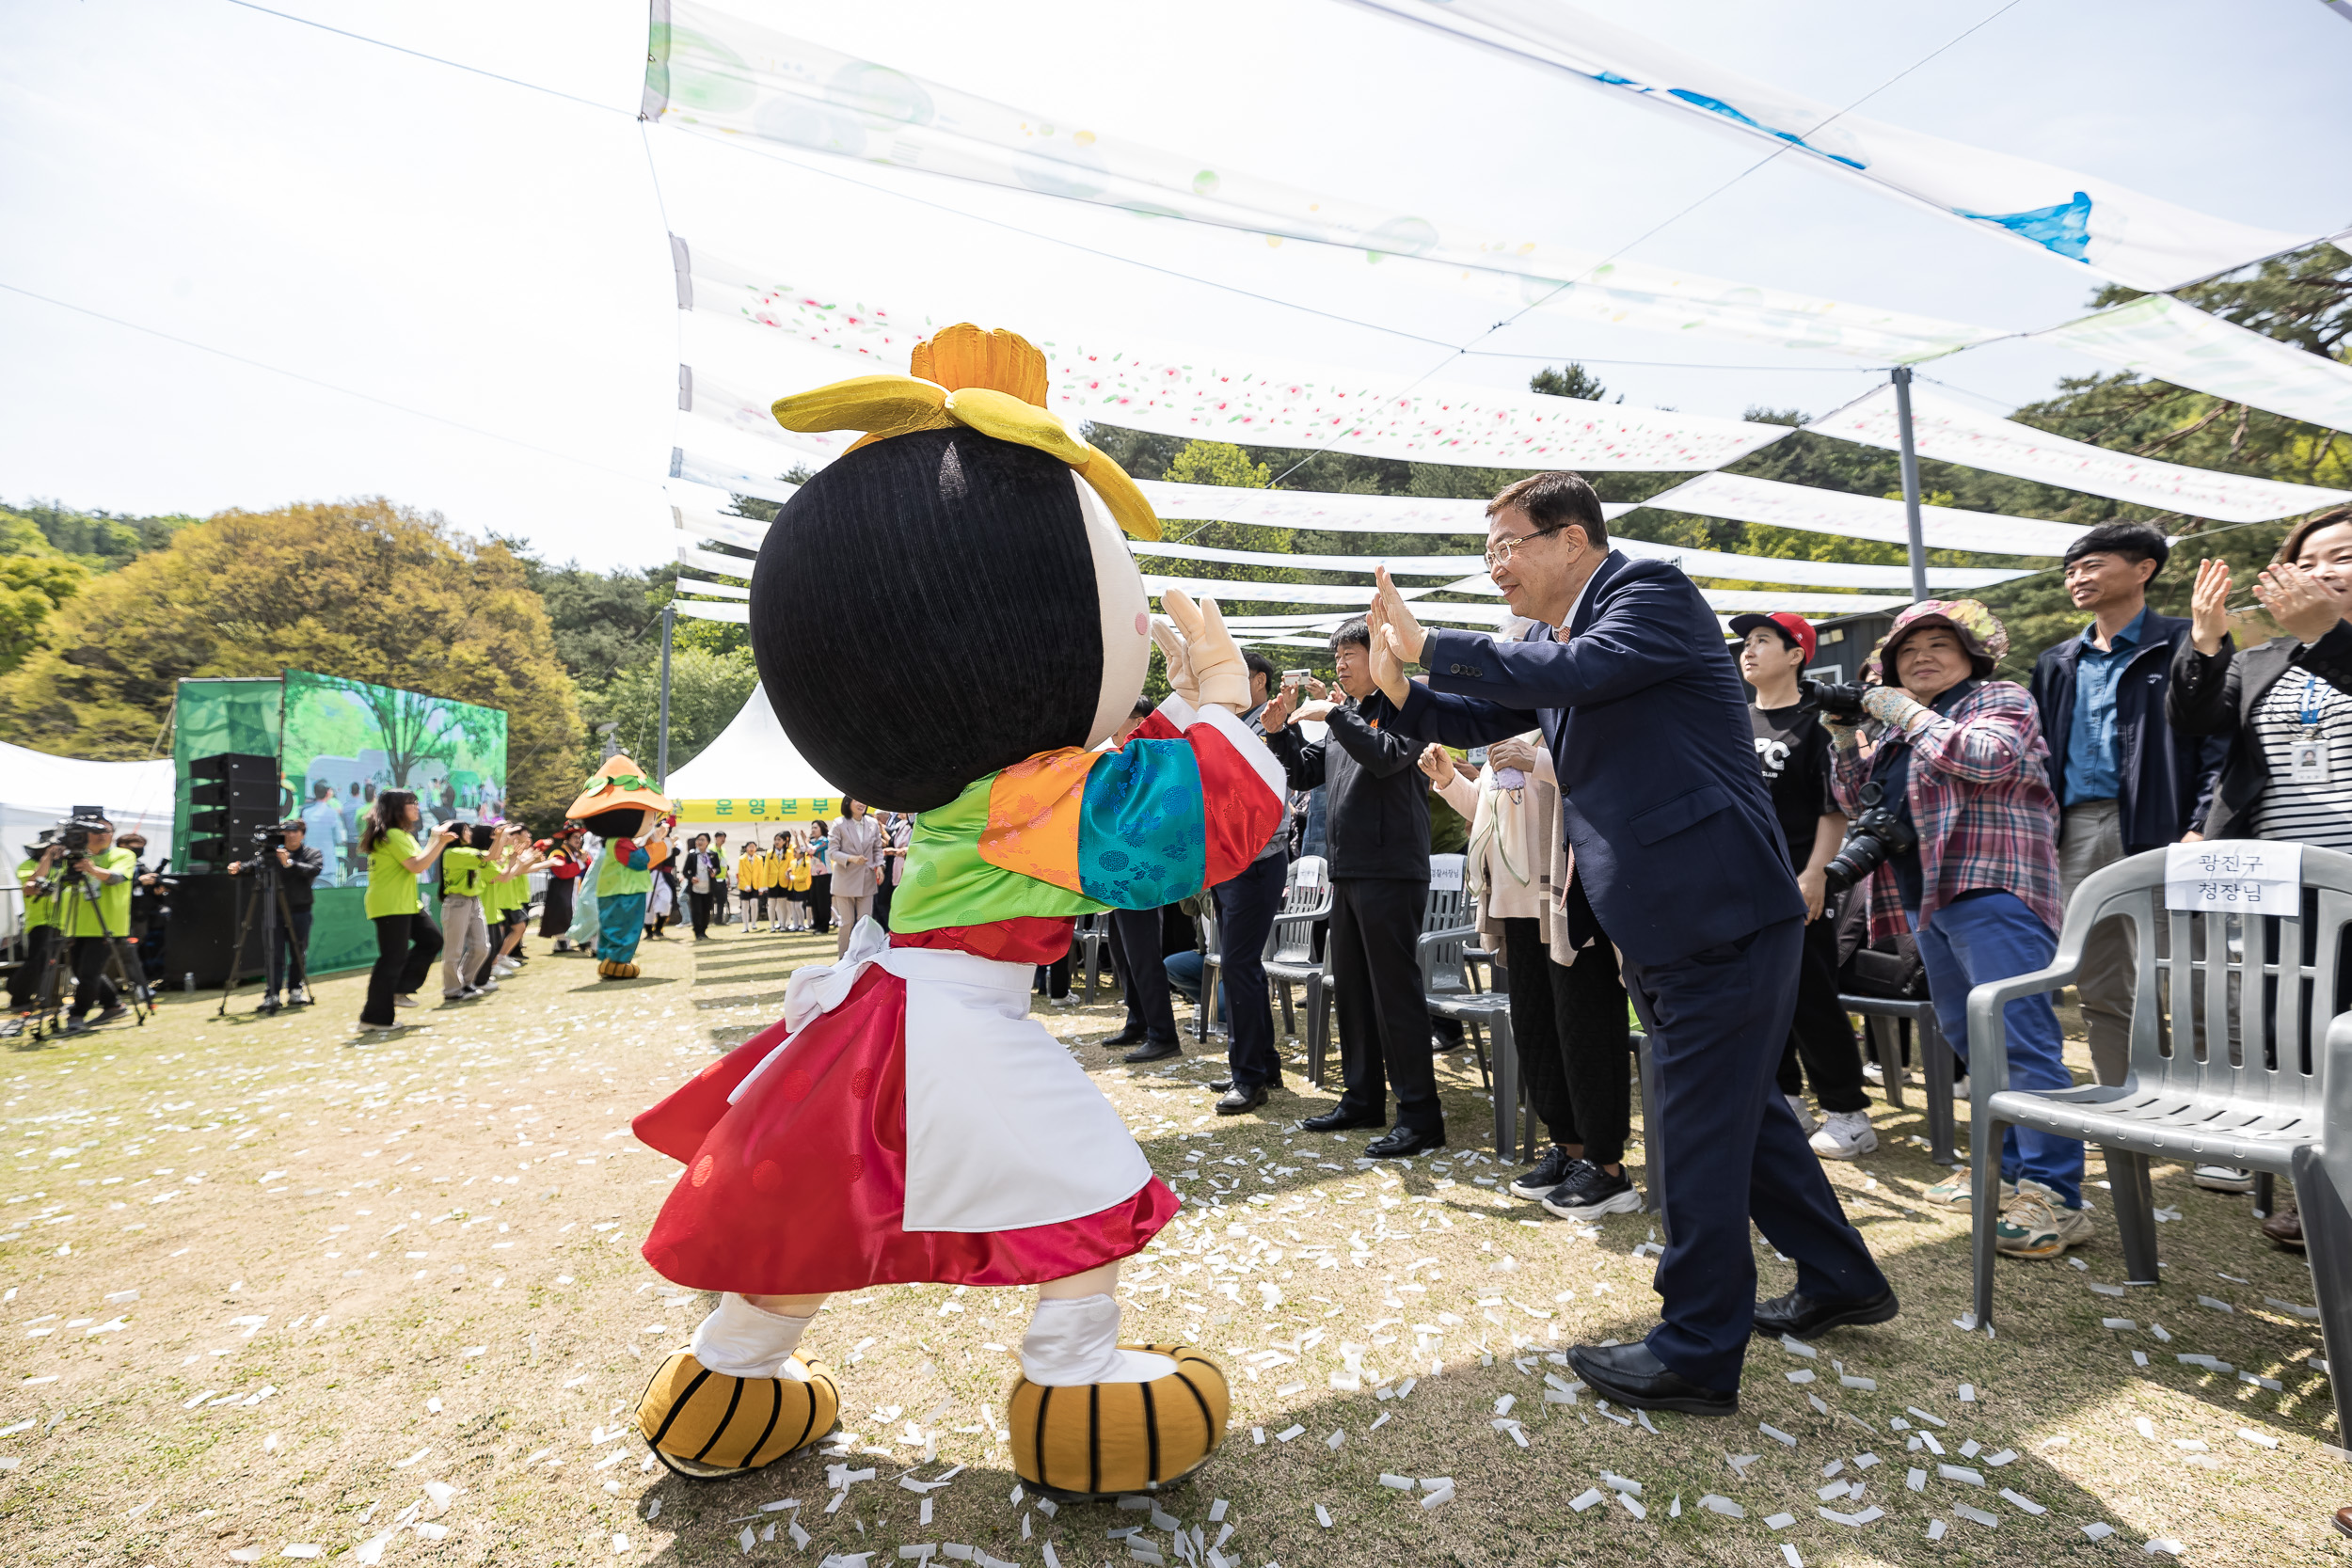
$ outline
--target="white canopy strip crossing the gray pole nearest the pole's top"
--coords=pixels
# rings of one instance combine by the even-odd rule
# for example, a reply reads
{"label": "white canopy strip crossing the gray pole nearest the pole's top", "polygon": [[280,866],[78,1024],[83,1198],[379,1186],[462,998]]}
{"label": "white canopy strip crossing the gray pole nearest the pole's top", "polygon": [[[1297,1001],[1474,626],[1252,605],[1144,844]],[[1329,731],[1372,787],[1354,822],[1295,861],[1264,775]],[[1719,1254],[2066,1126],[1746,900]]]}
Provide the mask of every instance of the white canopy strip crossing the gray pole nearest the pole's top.
{"label": "white canopy strip crossing the gray pole nearest the pole's top", "polygon": [[[1806,430],[1893,451],[1900,447],[1896,390],[1882,386],[1867,397],[1858,397],[1844,409],[1816,418]],[[2293,517],[2296,512],[2352,501],[2352,491],[2343,489],[2183,468],[2180,463],[2159,463],[2131,456],[2129,451],[2070,442],[2063,435],[2034,430],[1999,414],[1978,414],[1962,402],[1938,397],[1917,386],[1912,388],[1912,444],[1919,456],[1940,463],[1964,463],[1966,468],[1985,468],[2018,480],[2039,480],[2042,484],[2058,484],[2169,512],[2187,512],[2190,517],[2213,517],[2218,522],[2265,522],[2270,517]],[[1724,515],[1731,517],[1733,512]],[[1853,529],[1832,531],[1853,534]],[[2004,550],[2009,545],[1957,541],[1955,548]],[[2056,552],[2034,550],[2034,555]]]}

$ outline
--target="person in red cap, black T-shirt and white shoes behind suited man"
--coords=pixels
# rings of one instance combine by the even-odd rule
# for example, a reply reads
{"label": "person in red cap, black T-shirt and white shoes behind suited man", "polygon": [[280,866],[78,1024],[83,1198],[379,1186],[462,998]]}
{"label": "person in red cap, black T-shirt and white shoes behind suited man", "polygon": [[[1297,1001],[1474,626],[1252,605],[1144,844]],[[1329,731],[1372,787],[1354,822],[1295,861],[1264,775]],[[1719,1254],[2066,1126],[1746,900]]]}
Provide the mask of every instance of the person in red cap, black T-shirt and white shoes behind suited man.
{"label": "person in red cap, black T-shirt and white shoes behind suited man", "polygon": [[[1771,792],[1780,839],[1788,846],[1797,891],[1804,893],[1804,950],[1797,966],[1797,1013],[1790,1020],[1788,1046],[1780,1053],[1780,1093],[1797,1121],[1813,1133],[1813,1152],[1823,1159],[1856,1159],[1879,1147],[1870,1126],[1870,1095],[1863,1091],[1863,1046],[1853,1039],[1853,1020],[1837,1004],[1837,919],[1828,903],[1825,870],[1846,837],[1846,813],[1830,799],[1830,731],[1820,726],[1820,708],[1811,703],[1797,677],[1813,663],[1813,628],[1804,616],[1773,611],[1769,616],[1731,616],[1740,642],[1740,677],[1755,686],[1748,705],[1755,729],[1757,764]],[[1813,1079],[1823,1121],[1804,1107],[1804,1077]]]}

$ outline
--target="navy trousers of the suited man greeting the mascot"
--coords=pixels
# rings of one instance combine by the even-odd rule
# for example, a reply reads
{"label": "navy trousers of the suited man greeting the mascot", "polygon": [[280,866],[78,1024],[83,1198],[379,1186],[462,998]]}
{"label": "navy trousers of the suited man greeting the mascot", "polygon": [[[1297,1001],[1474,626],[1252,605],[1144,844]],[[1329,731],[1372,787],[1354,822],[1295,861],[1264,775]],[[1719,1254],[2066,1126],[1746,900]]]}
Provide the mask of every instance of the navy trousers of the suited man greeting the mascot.
{"label": "navy trousers of the suited man greeting the mascot", "polygon": [[1802,922],[1783,919],[1668,964],[1625,964],[1649,1032],[1658,1103],[1644,1107],[1644,1131],[1668,1232],[1649,1349],[1708,1389],[1740,1385],[1755,1326],[1748,1220],[1797,1262],[1797,1288],[1813,1300],[1886,1288],[1773,1081],[1802,945]]}

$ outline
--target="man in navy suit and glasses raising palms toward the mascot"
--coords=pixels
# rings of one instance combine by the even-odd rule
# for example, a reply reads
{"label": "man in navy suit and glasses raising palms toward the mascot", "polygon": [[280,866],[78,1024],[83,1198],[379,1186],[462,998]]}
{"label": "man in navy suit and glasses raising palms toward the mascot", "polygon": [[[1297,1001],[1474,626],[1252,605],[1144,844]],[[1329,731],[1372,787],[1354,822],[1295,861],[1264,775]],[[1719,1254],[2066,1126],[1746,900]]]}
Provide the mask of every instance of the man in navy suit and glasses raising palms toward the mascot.
{"label": "man in navy suit and glasses raising palms toward the mascot", "polygon": [[[1658,1328],[1569,1361],[1618,1403],[1731,1415],[1752,1331],[1813,1338],[1896,1314],[1773,1079],[1804,898],[1740,677],[1691,578],[1611,550],[1599,498],[1571,473],[1512,484],[1486,517],[1494,583],[1536,625],[1524,642],[1423,630],[1381,571],[1371,705],[1442,745],[1501,741],[1529,715],[1543,726],[1576,856],[1569,940],[1616,945],[1649,1032],[1649,1171],[1668,1227]],[[1416,661],[1428,684],[1404,679]],[[1606,947],[1578,961],[1609,961]],[[1790,1295],[1755,1300],[1750,1218],[1797,1260]]]}

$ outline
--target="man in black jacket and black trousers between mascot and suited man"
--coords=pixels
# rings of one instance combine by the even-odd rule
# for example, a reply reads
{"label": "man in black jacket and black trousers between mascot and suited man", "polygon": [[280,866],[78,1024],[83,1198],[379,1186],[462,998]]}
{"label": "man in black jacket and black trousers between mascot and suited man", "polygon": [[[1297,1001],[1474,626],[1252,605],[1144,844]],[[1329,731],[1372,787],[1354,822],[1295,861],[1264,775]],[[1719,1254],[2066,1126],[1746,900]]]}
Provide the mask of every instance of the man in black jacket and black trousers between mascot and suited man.
{"label": "man in black jacket and black trousers between mascot and suited man", "polygon": [[[1331,632],[1338,686],[1352,701],[1376,691],[1371,632],[1350,621]],[[1294,719],[1324,719],[1329,738],[1310,743]],[[1388,1091],[1397,1091],[1397,1126],[1364,1152],[1402,1159],[1446,1143],[1430,1063],[1430,1016],[1421,997],[1421,912],[1430,900],[1430,802],[1421,778],[1421,741],[1369,724],[1352,705],[1298,705],[1284,686],[1258,710],[1265,745],[1291,785],[1324,785],[1331,860],[1331,990],[1338,999],[1338,1060],[1345,1091],[1334,1110],[1298,1126],[1336,1133],[1385,1126]],[[1385,1072],[1383,1072],[1385,1067]]]}

